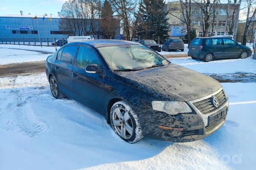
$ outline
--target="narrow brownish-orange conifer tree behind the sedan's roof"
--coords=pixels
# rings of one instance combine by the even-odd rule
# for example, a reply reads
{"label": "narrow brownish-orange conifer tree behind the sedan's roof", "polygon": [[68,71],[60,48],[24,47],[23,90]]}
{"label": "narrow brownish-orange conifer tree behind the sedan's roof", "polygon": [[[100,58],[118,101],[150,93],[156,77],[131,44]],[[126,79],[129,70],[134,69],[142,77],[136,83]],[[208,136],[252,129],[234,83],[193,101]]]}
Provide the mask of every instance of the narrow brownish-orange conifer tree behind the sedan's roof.
{"label": "narrow brownish-orange conifer tree behind the sedan's roof", "polygon": [[113,17],[113,13],[110,3],[105,0],[101,8],[102,36],[105,39],[114,38],[118,26],[118,20]]}

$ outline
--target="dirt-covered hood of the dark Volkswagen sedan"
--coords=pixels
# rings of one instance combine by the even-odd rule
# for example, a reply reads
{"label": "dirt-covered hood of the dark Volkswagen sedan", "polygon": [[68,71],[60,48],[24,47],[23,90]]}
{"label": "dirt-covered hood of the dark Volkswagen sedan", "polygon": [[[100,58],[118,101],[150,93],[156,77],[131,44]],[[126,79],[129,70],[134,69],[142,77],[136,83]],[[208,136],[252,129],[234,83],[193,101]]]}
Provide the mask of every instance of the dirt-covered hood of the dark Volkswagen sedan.
{"label": "dirt-covered hood of the dark Volkswagen sedan", "polygon": [[155,100],[191,101],[221,88],[213,78],[176,64],[115,73],[117,80],[144,90]]}

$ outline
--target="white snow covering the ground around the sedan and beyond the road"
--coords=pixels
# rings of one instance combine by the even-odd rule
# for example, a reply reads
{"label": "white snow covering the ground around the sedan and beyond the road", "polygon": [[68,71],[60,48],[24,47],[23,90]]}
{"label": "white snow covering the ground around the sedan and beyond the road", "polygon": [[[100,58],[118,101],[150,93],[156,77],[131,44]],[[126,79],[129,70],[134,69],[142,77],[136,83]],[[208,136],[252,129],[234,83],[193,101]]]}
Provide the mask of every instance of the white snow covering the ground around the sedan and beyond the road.
{"label": "white snow covering the ground around the sedan and beyond the road", "polygon": [[[0,64],[6,54],[20,55],[20,62],[41,55],[9,49],[1,53],[1,47]],[[256,73],[251,58],[170,61],[205,74]],[[0,169],[254,169],[256,82],[222,86],[229,112],[224,126],[211,136],[188,143],[145,137],[128,144],[97,112],[71,99],[53,98],[45,73],[0,78]]]}

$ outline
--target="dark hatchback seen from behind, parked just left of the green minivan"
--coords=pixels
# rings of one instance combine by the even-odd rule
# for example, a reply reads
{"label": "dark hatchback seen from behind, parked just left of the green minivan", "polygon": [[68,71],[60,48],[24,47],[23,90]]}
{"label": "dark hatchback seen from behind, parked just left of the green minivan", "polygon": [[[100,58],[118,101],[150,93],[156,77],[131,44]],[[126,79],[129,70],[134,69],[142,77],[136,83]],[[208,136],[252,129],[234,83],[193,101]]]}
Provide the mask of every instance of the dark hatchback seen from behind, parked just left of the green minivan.
{"label": "dark hatchback seen from behind, parked just left of the green minivan", "polygon": [[162,46],[162,50],[181,50],[184,51],[184,43],[181,38],[170,38]]}

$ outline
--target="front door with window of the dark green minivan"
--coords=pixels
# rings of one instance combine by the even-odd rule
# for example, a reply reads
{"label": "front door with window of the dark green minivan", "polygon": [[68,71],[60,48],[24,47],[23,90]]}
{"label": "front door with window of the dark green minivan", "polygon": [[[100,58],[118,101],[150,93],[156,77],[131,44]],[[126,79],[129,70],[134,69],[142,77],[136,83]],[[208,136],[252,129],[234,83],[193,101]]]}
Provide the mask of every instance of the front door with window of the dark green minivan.
{"label": "front door with window of the dark green minivan", "polygon": [[241,49],[237,43],[230,38],[223,38],[224,41],[224,58],[238,57],[241,53]]}

